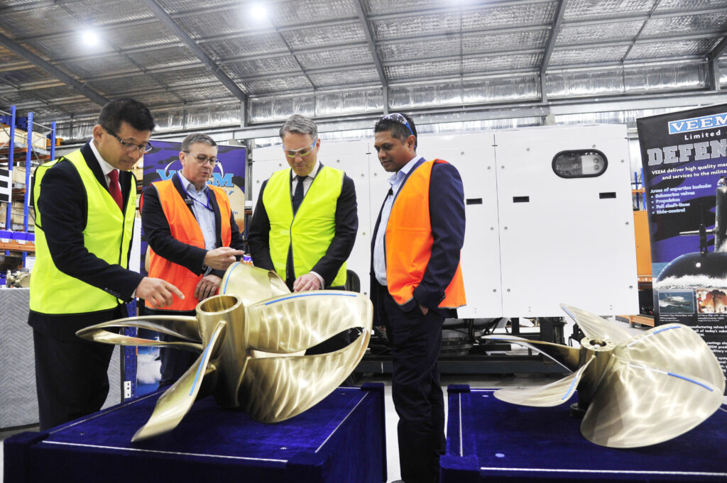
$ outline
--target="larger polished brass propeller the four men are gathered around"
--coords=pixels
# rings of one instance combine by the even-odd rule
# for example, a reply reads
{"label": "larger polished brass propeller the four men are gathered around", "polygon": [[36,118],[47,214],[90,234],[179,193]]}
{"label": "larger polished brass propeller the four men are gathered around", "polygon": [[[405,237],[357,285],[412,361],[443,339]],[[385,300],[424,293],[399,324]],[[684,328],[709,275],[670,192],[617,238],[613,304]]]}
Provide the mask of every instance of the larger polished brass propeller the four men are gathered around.
{"label": "larger polished brass propeller the four men are gathered around", "polygon": [[[214,394],[223,407],[242,407],[257,421],[292,418],[336,389],[369,344],[373,307],[360,293],[290,293],[275,272],[246,264],[228,268],[220,293],[201,301],[196,317],[127,317],[76,333],[104,344],[201,352],[159,397],[132,441],[177,427],[201,391]],[[148,328],[186,341],[150,341],[108,331],[122,327]],[[306,349],[349,329],[358,329],[358,336],[347,346],[305,355]],[[201,389],[203,380],[205,389]]]}

